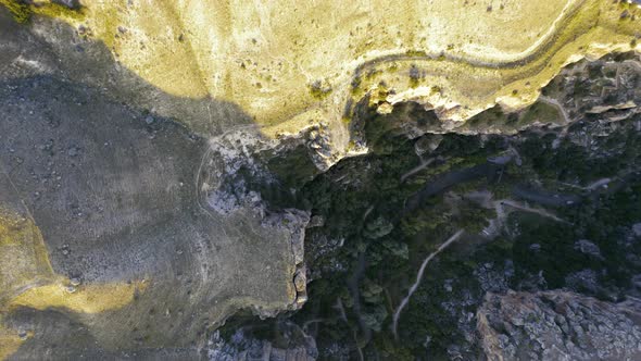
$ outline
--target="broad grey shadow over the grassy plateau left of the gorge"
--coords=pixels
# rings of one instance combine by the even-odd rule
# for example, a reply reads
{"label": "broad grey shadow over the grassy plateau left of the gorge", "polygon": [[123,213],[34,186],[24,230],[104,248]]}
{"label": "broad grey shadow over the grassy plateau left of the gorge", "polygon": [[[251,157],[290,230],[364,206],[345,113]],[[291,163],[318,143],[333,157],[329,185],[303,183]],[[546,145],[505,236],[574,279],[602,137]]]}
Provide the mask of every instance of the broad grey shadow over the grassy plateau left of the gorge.
{"label": "broad grey shadow over the grassy plateau left of the gorge", "polygon": [[[251,225],[230,226],[198,201],[208,137],[251,126],[251,116],[231,102],[167,95],[102,42],[65,23],[34,21],[49,23],[61,41],[45,41],[0,7],[0,194],[15,196],[3,206],[35,220],[53,271],[79,287],[150,281],[105,312],[3,316],[16,329],[36,328],[12,359],[199,358],[196,340],[234,311],[212,311],[217,297],[255,295],[261,276],[251,274],[284,278],[278,248],[254,239],[264,235],[247,236]],[[163,117],[150,104],[184,117]],[[265,272],[268,262],[277,266]],[[285,297],[284,285],[263,284],[269,289],[261,296]]]}

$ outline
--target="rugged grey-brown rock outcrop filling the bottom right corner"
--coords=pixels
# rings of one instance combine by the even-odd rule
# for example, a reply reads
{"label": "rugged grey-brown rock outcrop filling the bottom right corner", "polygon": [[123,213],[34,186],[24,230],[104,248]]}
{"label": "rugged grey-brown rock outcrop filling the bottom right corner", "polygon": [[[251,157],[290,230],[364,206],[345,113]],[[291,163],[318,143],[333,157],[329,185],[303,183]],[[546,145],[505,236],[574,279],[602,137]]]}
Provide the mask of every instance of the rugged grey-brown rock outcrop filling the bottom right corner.
{"label": "rugged grey-brown rock outcrop filling the bottom right corner", "polygon": [[641,302],[569,291],[488,294],[477,331],[489,360],[639,360]]}

